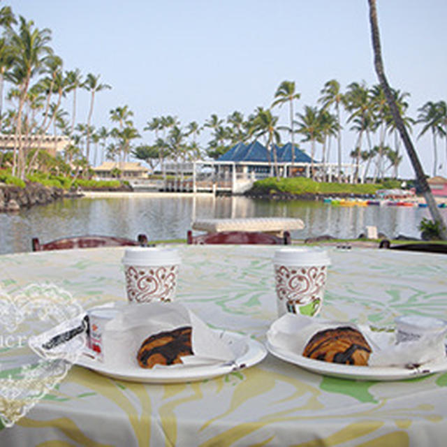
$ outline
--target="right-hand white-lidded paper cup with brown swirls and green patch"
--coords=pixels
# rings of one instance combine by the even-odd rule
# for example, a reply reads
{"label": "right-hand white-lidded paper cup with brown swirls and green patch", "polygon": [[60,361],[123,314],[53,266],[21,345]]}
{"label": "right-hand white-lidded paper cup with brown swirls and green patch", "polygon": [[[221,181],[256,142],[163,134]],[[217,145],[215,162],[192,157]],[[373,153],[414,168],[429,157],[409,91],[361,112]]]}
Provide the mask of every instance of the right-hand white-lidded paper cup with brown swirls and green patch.
{"label": "right-hand white-lidded paper cup with brown swirls and green patch", "polygon": [[328,251],[307,247],[279,249],[273,264],[278,316],[287,312],[316,316],[323,305],[330,265]]}

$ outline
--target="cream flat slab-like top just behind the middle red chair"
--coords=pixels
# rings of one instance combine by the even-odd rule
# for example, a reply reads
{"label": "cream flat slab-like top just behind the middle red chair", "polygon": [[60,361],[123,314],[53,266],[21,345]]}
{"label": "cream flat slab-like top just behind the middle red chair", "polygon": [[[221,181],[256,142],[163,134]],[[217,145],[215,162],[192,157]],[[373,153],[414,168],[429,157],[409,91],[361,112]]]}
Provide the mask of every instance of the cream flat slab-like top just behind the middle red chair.
{"label": "cream flat slab-like top just behind the middle red chair", "polygon": [[197,219],[192,223],[193,230],[208,233],[220,231],[262,231],[282,237],[284,231],[302,230],[305,223],[292,217],[247,217],[238,219]]}

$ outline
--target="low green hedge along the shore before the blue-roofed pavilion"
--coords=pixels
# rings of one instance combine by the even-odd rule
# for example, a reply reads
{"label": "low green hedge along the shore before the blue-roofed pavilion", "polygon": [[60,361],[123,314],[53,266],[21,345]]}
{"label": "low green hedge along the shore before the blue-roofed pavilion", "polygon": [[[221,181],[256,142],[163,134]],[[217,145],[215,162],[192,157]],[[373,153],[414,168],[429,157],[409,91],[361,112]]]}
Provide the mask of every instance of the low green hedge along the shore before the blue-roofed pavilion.
{"label": "low green hedge along the shore before the blue-roofed pavilion", "polygon": [[260,193],[279,191],[292,194],[374,194],[381,187],[381,184],[315,182],[306,177],[280,179],[269,177],[255,182],[252,191]]}

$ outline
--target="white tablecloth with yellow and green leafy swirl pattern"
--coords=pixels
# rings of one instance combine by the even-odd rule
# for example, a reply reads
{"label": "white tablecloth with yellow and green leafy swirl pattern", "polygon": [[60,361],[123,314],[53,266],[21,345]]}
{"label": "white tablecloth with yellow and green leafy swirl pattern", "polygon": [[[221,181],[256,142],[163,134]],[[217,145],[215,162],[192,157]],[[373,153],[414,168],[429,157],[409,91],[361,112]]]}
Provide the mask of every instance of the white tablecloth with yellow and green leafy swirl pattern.
{"label": "white tablecloth with yellow and green leafy swirl pattern", "polygon": [[[215,328],[254,335],[276,318],[275,247],[182,246],[178,298]],[[124,249],[0,257],[14,291],[50,281],[87,309],[124,300]],[[321,316],[390,325],[447,318],[447,256],[331,248]],[[393,382],[307,372],[270,354],[217,379],[154,385],[79,366],[11,428],[2,446],[445,446],[447,373]]]}

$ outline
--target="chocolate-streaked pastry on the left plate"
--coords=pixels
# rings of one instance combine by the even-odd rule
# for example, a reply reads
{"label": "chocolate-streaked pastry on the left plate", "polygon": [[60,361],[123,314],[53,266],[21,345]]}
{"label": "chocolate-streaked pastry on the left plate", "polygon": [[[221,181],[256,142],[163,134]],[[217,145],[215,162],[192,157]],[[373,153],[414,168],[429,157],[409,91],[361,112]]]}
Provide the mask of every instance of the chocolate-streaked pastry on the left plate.
{"label": "chocolate-streaked pastry on the left plate", "polygon": [[138,365],[152,368],[154,365],[175,365],[182,363],[182,356],[192,356],[191,326],[167,330],[151,335],[142,342],[138,350]]}

